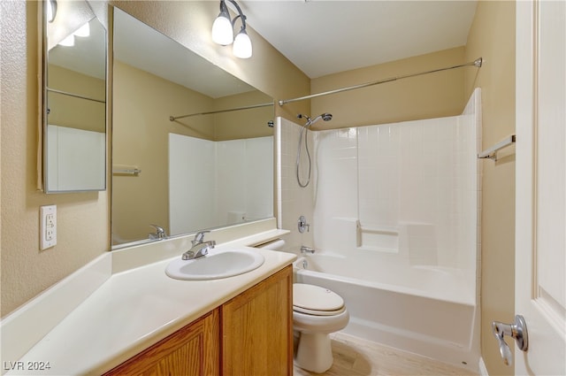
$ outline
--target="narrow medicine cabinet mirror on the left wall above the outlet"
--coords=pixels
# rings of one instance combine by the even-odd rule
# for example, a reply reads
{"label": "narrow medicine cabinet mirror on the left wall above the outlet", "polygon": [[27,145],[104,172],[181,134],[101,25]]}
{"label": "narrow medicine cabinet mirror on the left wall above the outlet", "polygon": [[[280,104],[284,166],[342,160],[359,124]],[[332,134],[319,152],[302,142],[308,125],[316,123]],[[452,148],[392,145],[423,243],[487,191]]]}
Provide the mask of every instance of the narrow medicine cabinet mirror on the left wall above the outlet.
{"label": "narrow medicine cabinet mirror on the left wall above the outlet", "polygon": [[106,188],[106,30],[88,2],[43,3],[43,189]]}

